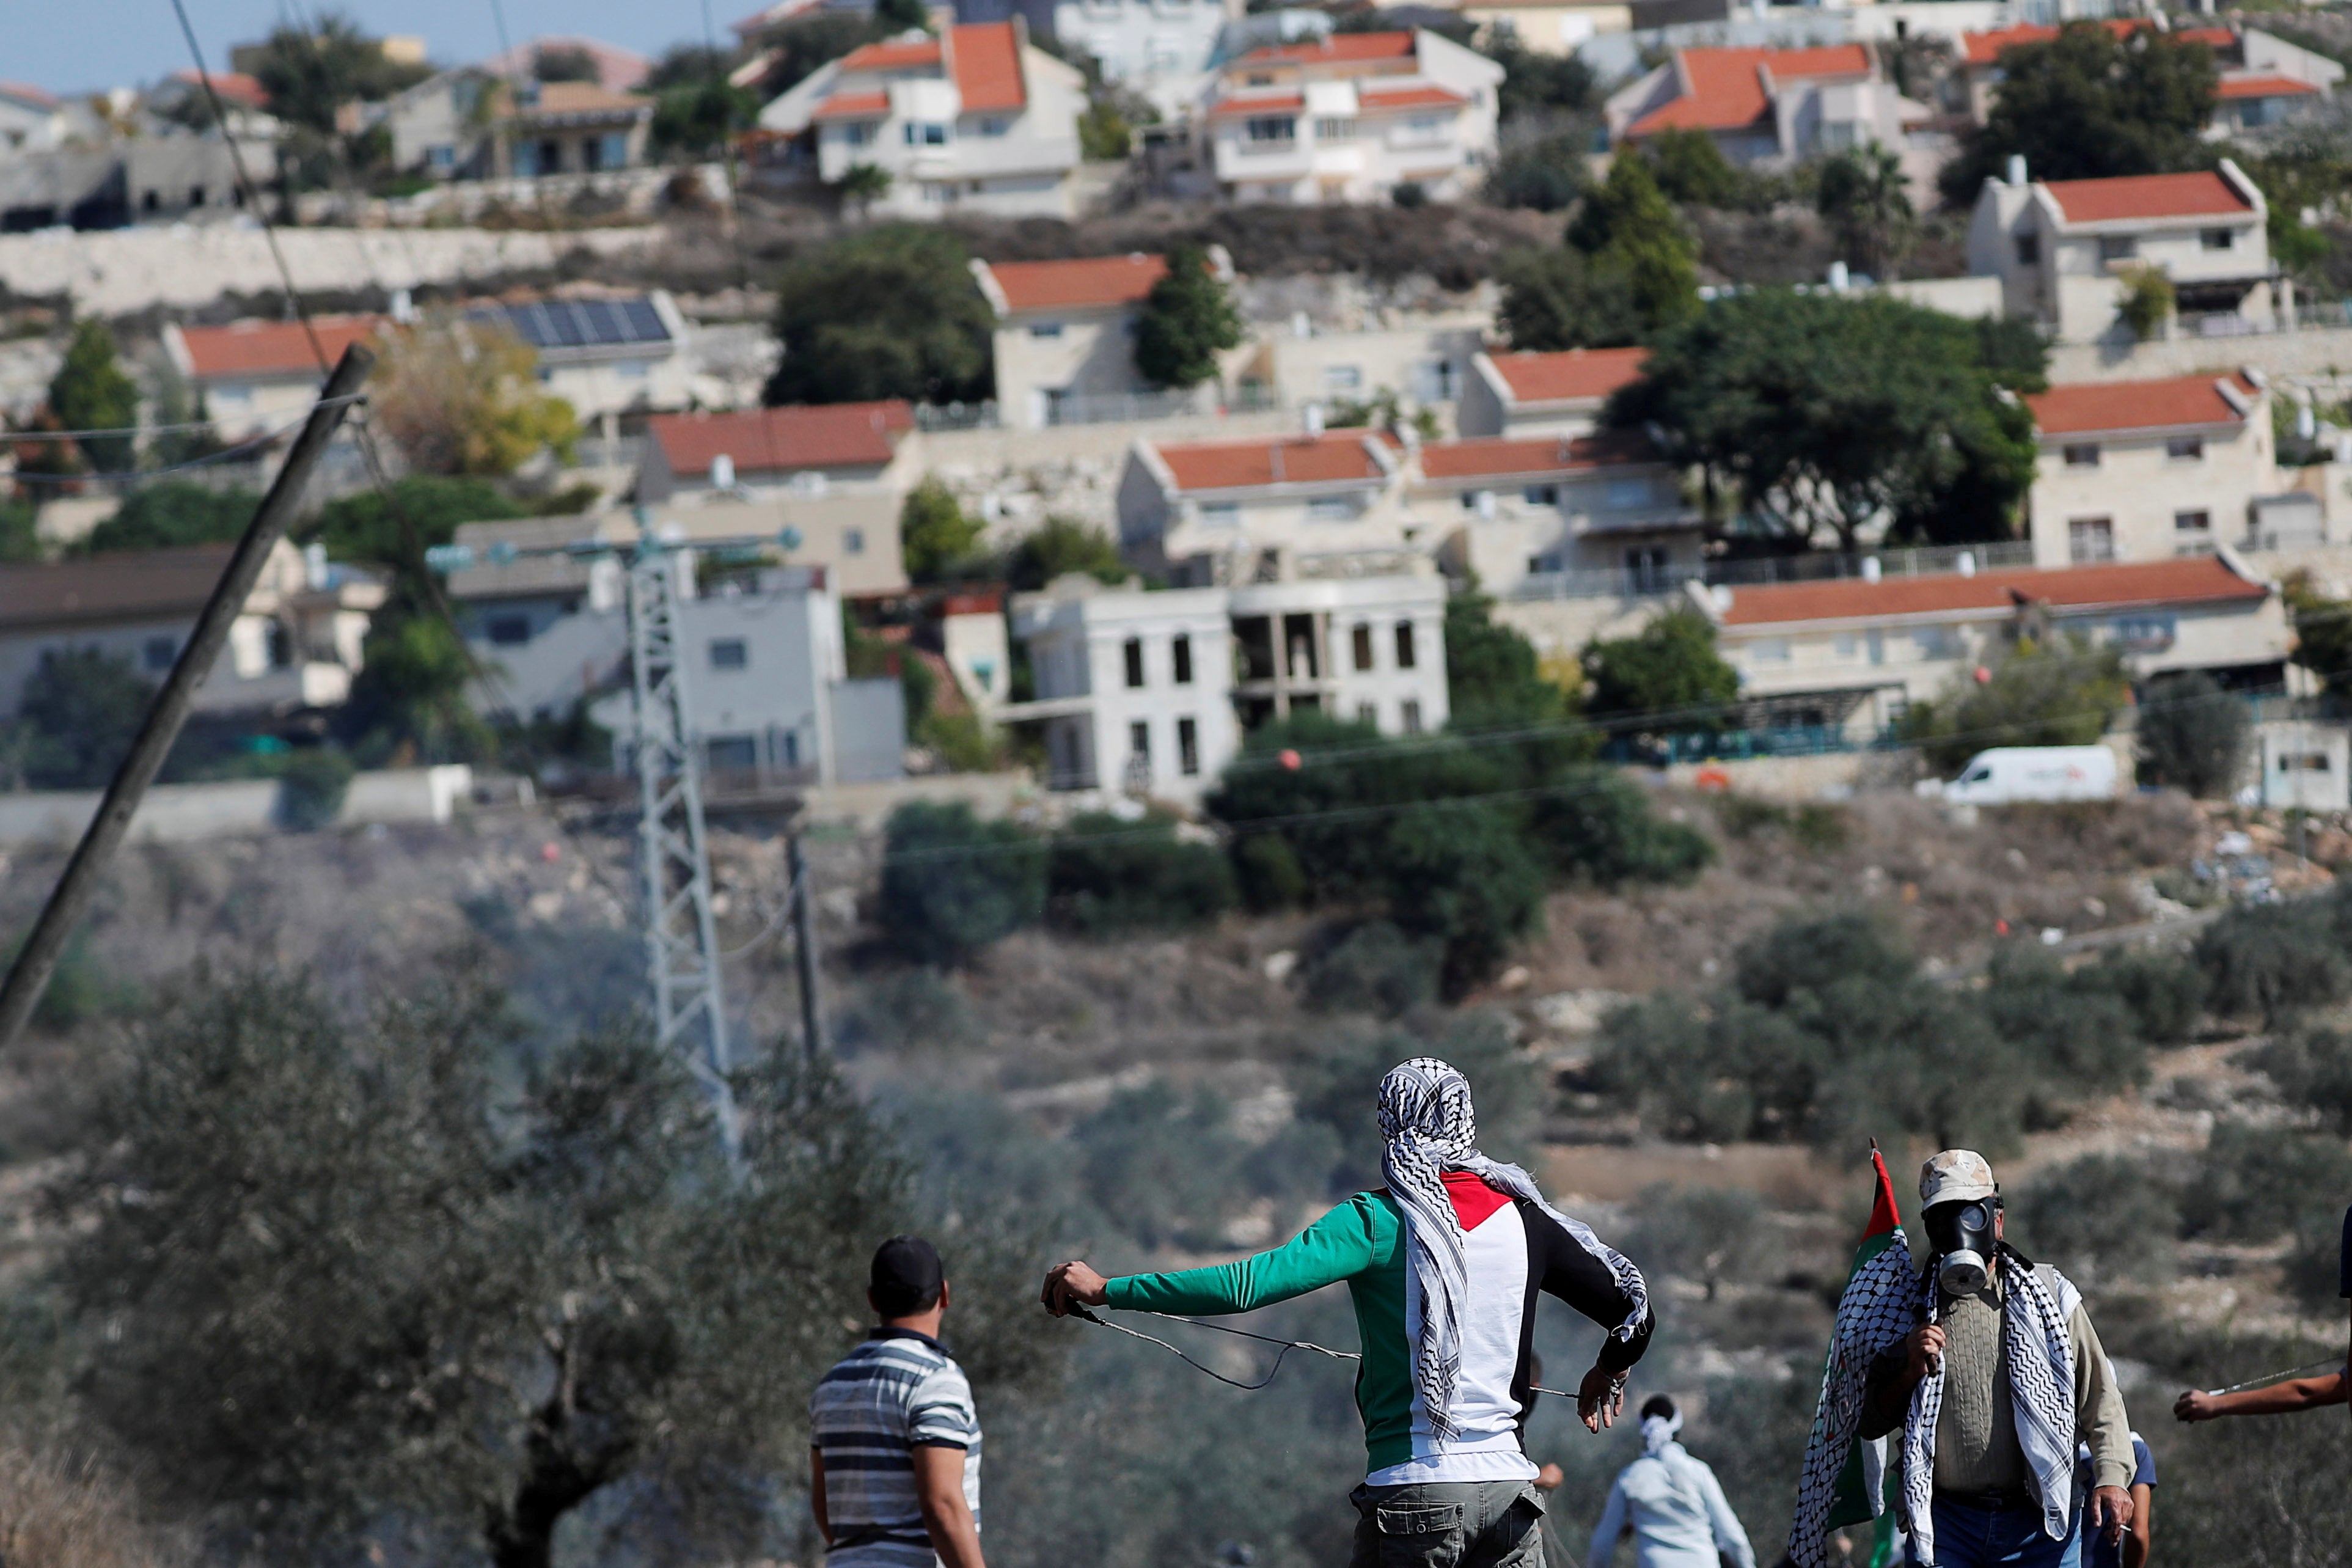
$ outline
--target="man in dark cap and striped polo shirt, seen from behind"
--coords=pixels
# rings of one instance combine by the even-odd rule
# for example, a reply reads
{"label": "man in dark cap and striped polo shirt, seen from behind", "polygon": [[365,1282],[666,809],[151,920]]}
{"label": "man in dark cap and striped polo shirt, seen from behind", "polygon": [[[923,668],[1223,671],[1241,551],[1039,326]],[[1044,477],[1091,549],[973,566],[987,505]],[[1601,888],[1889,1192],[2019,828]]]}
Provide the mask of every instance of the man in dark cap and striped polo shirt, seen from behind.
{"label": "man in dark cap and striped polo shirt, seen from behind", "polygon": [[809,1507],[826,1568],[983,1568],[981,1418],[938,1342],[938,1253],[891,1237],[866,1300],[882,1326],[809,1396]]}

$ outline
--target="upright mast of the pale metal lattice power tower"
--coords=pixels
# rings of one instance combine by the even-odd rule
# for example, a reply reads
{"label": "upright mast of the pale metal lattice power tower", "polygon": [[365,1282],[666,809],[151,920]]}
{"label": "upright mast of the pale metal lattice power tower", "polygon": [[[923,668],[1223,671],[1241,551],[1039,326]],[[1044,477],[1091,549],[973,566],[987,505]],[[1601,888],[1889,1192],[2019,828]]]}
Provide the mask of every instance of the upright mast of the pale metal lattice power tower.
{"label": "upright mast of the pale metal lattice power tower", "polygon": [[677,651],[677,571],[691,559],[654,538],[628,567],[633,750],[637,759],[637,853],[644,877],[644,957],[654,978],[654,1030],[684,1053],[710,1091],[729,1164],[741,1126],[727,1074],[727,987],[710,910],[710,846],[703,778],[687,722],[687,672]]}

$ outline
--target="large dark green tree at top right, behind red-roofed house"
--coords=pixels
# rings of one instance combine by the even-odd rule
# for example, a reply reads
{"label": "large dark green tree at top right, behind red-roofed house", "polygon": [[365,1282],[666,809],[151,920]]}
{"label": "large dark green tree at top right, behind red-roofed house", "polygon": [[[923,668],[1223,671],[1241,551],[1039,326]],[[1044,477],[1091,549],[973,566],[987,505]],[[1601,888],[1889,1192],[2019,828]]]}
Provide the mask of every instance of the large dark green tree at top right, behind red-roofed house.
{"label": "large dark green tree at top right, behind red-roofed house", "polygon": [[2011,45],[1983,129],[1940,176],[1943,200],[1973,207],[1987,179],[2023,153],[2034,179],[2166,174],[2209,162],[2218,73],[2201,42],[2166,33],[2117,38],[2103,21],[2070,21],[2049,42]]}

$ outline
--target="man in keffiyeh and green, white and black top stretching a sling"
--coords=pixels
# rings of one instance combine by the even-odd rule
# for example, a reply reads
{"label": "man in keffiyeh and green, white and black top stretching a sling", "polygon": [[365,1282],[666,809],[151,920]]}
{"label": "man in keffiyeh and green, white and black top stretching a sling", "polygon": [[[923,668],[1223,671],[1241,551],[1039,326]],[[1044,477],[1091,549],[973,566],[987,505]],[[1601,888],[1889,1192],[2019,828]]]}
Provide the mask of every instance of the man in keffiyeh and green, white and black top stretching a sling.
{"label": "man in keffiyeh and green, white and black top stretching a sling", "polygon": [[1536,1291],[1609,1333],[1578,1387],[1588,1429],[1611,1425],[1649,1345],[1642,1272],[1552,1208],[1519,1166],[1477,1150],[1470,1081],[1435,1058],[1381,1079],[1381,1168],[1284,1246],[1242,1262],[1103,1279],[1056,1267],[1044,1305],[1214,1316],[1345,1284],[1364,1361],[1355,1380],[1369,1467],[1355,1568],[1541,1568],[1543,1495],[1524,1427],[1536,1403]]}

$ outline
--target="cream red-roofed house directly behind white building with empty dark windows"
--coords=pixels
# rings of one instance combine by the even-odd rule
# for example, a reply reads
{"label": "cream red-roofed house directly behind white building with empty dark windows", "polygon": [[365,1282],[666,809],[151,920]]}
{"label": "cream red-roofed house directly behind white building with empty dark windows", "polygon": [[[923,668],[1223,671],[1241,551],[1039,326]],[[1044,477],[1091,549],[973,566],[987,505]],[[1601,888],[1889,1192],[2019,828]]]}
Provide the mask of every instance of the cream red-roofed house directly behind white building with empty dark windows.
{"label": "cream red-roofed house directly behind white building with empty dark windows", "polygon": [[1176,583],[1251,583],[1317,562],[1425,555],[1404,512],[1404,451],[1371,430],[1150,442],[1120,473],[1120,550]]}

